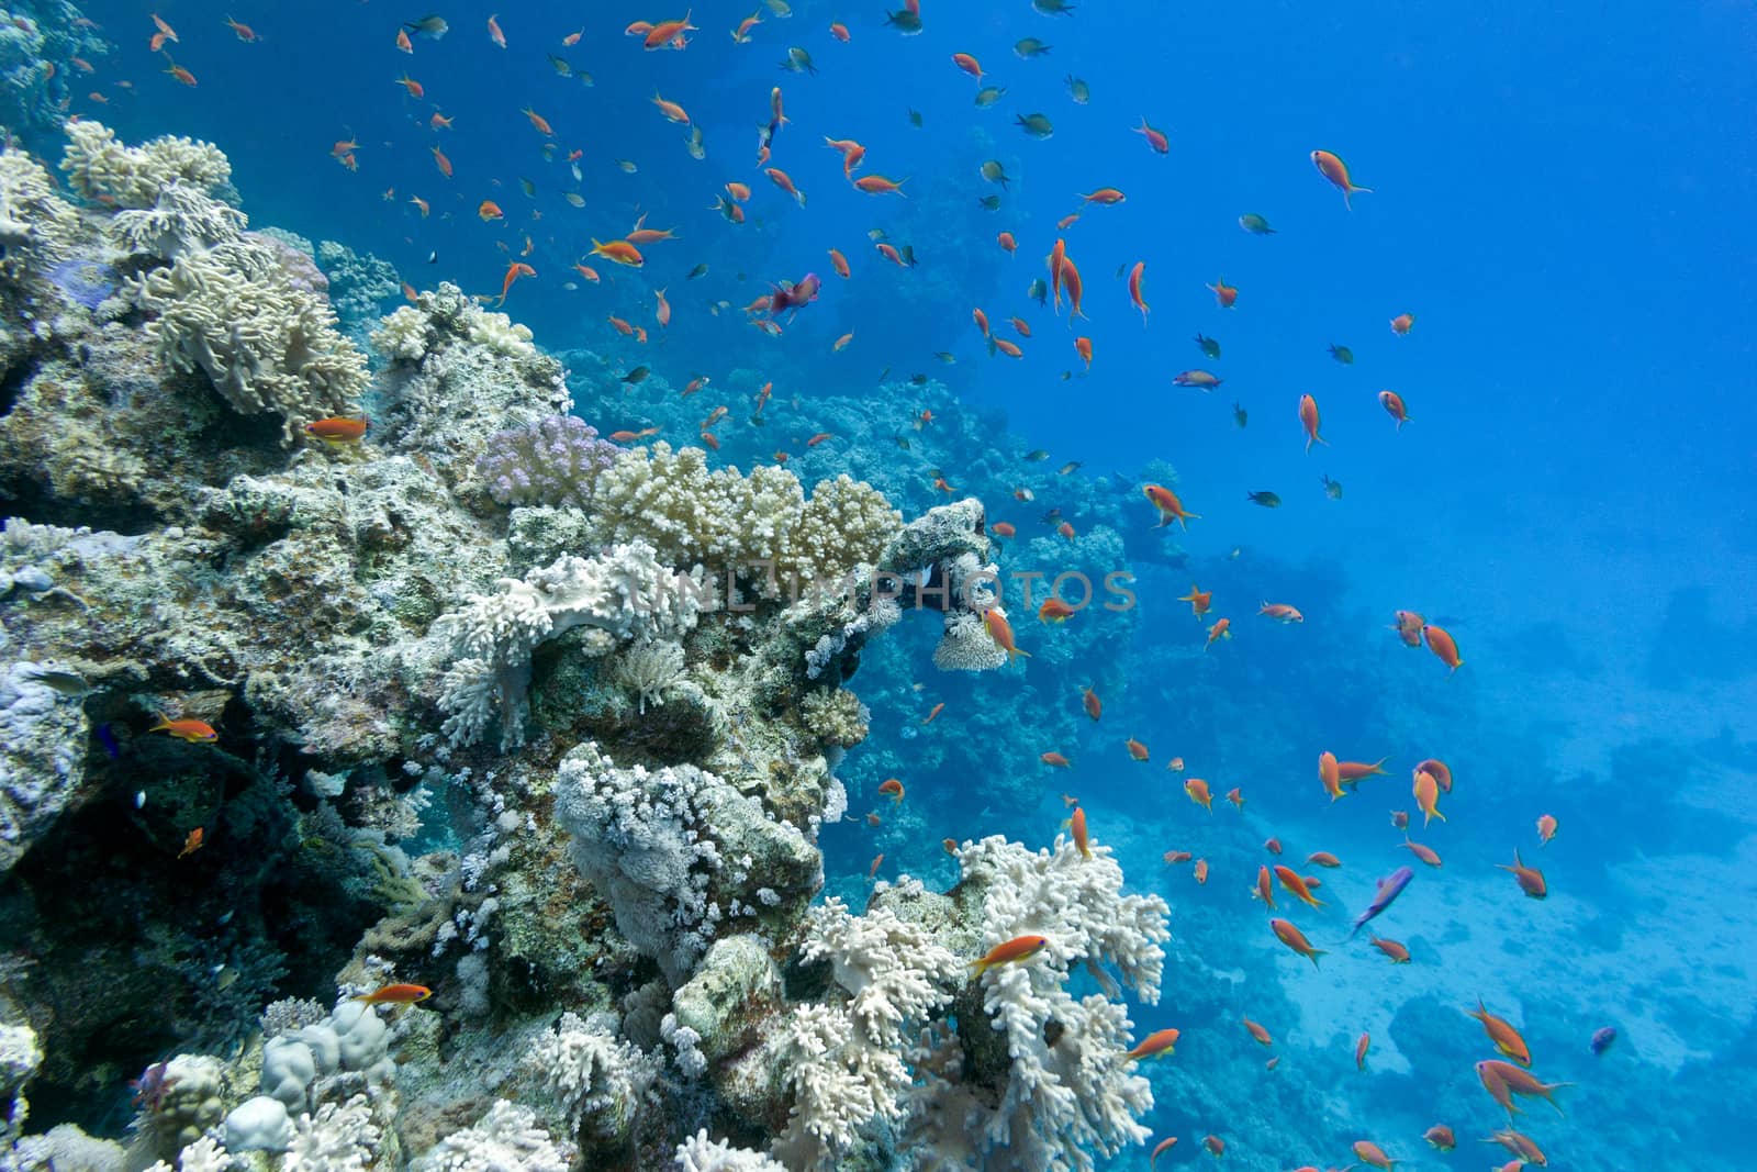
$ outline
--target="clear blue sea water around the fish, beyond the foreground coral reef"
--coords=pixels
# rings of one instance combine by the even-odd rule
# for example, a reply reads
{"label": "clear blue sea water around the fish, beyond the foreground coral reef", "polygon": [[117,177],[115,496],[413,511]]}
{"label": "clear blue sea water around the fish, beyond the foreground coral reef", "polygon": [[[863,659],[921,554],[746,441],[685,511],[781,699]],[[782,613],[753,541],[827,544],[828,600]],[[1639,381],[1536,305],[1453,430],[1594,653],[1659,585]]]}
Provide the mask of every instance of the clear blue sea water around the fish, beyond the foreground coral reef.
{"label": "clear blue sea water around the fish, beyond the foreground coral reef", "polygon": [[[878,4],[801,2],[734,46],[727,30],[748,5],[698,4],[689,51],[643,53],[620,33],[654,16],[641,7],[503,5],[503,51],[483,28],[488,7],[471,4],[445,12],[445,40],[416,40],[406,56],[392,35],[416,12],[383,0],[234,7],[262,33],[255,46],[220,25],[220,7],[165,4],[158,12],[183,33],[176,60],[200,81],[188,90],[156,72],[142,7],[95,4],[119,47],[90,84],[111,102],[74,111],[127,141],[220,142],[255,223],[374,251],[420,288],[452,279],[497,293],[508,255],[495,242],[517,253],[529,234],[539,276],[506,311],[552,350],[650,364],[675,385],[757,371],[777,381],[777,401],[801,397],[801,420],[813,392],[907,408],[898,397],[910,392],[880,390],[878,374],[924,373],[970,411],[1003,409],[1023,446],[1051,450],[1051,469],[1077,459],[1079,476],[1117,473],[1135,492],[1135,469],[1170,460],[1202,520],[1177,534],[1188,564],[1139,568],[1124,643],[1102,662],[965,680],[938,676],[931,633],[905,629],[854,680],[877,733],[850,777],[926,763],[907,778],[919,829],[877,836],[887,875],[949,880],[944,835],[1047,843],[1065,815],[1056,794],[1070,791],[1130,880],[1168,898],[1165,996],[1135,1021],[1142,1033],[1184,1030],[1177,1058],[1153,1072],[1147,1119],[1154,1139],[1182,1137],[1172,1163],[1205,1158],[1205,1133],[1247,1168],[1341,1165],[1355,1139],[1400,1167],[1479,1163],[1499,1151],[1478,1139],[1500,1112],[1472,1075],[1490,1053],[1462,1010],[1483,996],[1523,1028],[1543,1077],[1578,1084],[1562,1093],[1565,1119],[1543,1103],[1522,1116],[1551,1167],[1750,1167],[1724,1105],[1757,1091],[1757,11],[1492,7],[1091,0],[1047,18],[1023,0],[928,0],[926,32],[900,37]],[[560,47],[582,19],[582,42]],[[831,19],[847,21],[850,44],[829,37]],[[1019,60],[1012,44],[1028,35],[1051,54]],[[810,51],[817,76],[777,69],[789,46]],[[975,54],[1007,95],[977,109],[954,51]],[[559,77],[548,53],[596,84]],[[425,100],[394,84],[402,70]],[[1068,74],[1089,83],[1088,105],[1070,100]],[[111,84],[123,77],[132,93]],[[803,209],[754,165],[773,84],[792,121],[771,165],[806,192]],[[705,162],[659,118],[655,90],[696,116]],[[427,127],[436,105],[453,130]],[[555,160],[539,155],[525,105],[553,125]],[[1012,125],[1037,111],[1054,137]],[[1170,155],[1132,134],[1142,116],[1167,132]],[[355,174],[329,155],[350,135]],[[863,174],[907,176],[907,199],[849,188],[824,135],[861,141]],[[436,142],[455,165],[450,181],[432,165]],[[575,148],[582,183],[566,174]],[[1353,211],[1314,172],[1316,148],[1374,188]],[[998,211],[977,206],[996,192],[977,176],[987,158],[1012,177]],[[729,179],[754,192],[741,227],[710,211]],[[1096,186],[1128,199],[1058,234],[1074,193]],[[564,190],[587,206],[569,207]],[[432,218],[409,195],[430,200]],[[506,221],[478,221],[483,199]],[[622,235],[641,213],[682,242],[650,248],[640,274],[594,262],[604,283],[566,290],[589,239]],[[1242,213],[1277,234],[1242,232]],[[910,242],[919,267],[884,262],[870,228]],[[1016,257],[994,244],[1000,230],[1019,239]],[[1077,332],[1096,350],[1089,374],[1066,318],[1024,295],[1058,235],[1086,281],[1091,322]],[[828,248],[850,258],[854,279],[829,272]],[[1146,327],[1116,278],[1137,260]],[[685,281],[698,262],[710,274]],[[741,323],[738,307],[766,283],[808,271],[824,293],[780,339]],[[1207,292],[1218,278],[1240,290],[1233,309]],[[676,315],[662,337],[648,297],[659,286]],[[722,299],[731,311],[708,315]],[[977,306],[996,336],[1014,337],[1012,315],[1030,322],[1023,360],[984,353]],[[1406,311],[1414,329],[1395,337],[1388,320]],[[608,315],[645,323],[654,341],[622,341]],[[1197,332],[1223,344],[1218,362],[1200,355]],[[1328,344],[1351,346],[1353,365]],[[1225,383],[1172,387],[1188,367]],[[1402,432],[1374,399],[1381,388],[1409,404]],[[1311,453],[1295,418],[1302,394],[1318,399],[1330,443]],[[1249,411],[1242,430],[1233,402]],[[889,430],[875,425],[861,443],[884,448]],[[942,459],[958,483],[959,453]],[[1325,497],[1321,474],[1344,485],[1341,501]],[[1247,490],[1284,503],[1262,510]],[[921,485],[908,504],[931,499]],[[1049,504],[989,510],[1035,522]],[[1154,520],[1139,499],[1124,515],[1142,529]],[[1235,638],[1207,655],[1202,626],[1174,601],[1191,580],[1233,622]],[[1262,599],[1297,604],[1305,622],[1254,617]],[[1450,626],[1465,666],[1448,675],[1427,650],[1400,647],[1385,629],[1395,608]],[[1054,638],[1019,626],[1028,648]],[[1075,676],[1102,682],[1096,726],[1079,713]],[[914,680],[926,696],[912,699]],[[947,708],[921,727],[928,696]],[[1153,761],[1132,763],[1124,736]],[[1061,749],[1075,770],[1047,777],[1035,808],[987,808],[982,777],[952,768],[954,749],[926,750],[935,738],[1024,768]],[[1330,807],[1314,777],[1325,749],[1388,754],[1392,773]],[[1165,770],[1172,754],[1186,775]],[[1407,773],[1423,756],[1448,759],[1458,787],[1442,801],[1448,822],[1418,833],[1446,866],[1416,865],[1376,924],[1414,954],[1393,970],[1362,942],[1337,942],[1370,879],[1409,861],[1386,814],[1414,808]],[[1179,791],[1189,773],[1212,780],[1212,815]],[[1242,812],[1219,799],[1232,785]],[[1546,849],[1539,814],[1560,821]],[[1297,917],[1332,949],[1321,970],[1283,951],[1247,898],[1269,835],[1295,863],[1316,849],[1344,861],[1323,873],[1330,907]],[[833,889],[861,887],[873,838],[826,836]],[[1548,900],[1493,870],[1515,847],[1541,857]],[[1161,865],[1170,849],[1209,857],[1209,882]],[[1269,1053],[1240,1016],[1276,1035],[1277,1070],[1263,1070]],[[1594,1060],[1587,1038],[1604,1024],[1622,1040]],[[1362,1030],[1372,1035],[1363,1074]],[[1457,1130],[1458,1153],[1421,1142],[1435,1121]],[[1139,1160],[1124,1153],[1117,1167]]]}

